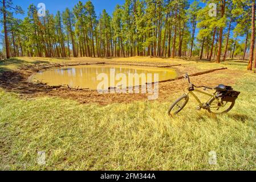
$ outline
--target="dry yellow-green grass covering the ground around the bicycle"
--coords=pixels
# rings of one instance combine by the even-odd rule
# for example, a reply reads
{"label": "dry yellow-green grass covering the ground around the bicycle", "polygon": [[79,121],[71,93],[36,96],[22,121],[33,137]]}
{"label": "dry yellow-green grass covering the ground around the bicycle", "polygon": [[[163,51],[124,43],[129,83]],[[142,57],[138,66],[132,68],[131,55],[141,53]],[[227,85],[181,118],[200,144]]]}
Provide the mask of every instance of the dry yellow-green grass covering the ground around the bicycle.
{"label": "dry yellow-green grass covering the ground around the bicycle", "polygon": [[[255,81],[254,73],[236,80],[242,94],[229,114],[196,111],[191,100],[173,119],[166,111],[176,96],[164,103],[99,106],[50,97],[22,100],[0,89],[0,169],[255,170]],[[46,166],[36,163],[38,151],[46,152]],[[210,151],[217,152],[216,166],[208,163]]]}

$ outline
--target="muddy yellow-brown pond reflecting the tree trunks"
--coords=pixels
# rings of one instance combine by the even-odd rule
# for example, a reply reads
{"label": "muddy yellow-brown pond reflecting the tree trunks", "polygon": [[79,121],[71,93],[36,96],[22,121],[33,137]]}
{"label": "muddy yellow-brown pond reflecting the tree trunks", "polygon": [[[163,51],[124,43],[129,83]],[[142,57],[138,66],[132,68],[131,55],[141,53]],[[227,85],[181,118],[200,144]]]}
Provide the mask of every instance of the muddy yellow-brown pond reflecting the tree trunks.
{"label": "muddy yellow-brown pond reflecting the tree trunks", "polygon": [[[141,86],[146,85],[147,82],[157,81],[153,80],[153,78],[155,77],[155,73],[159,74],[159,82],[177,78],[179,75],[176,69],[173,68],[174,66],[177,65],[158,67],[156,67],[155,65],[148,66],[142,64],[110,63],[81,64],[75,66],[68,65],[60,68],[47,69],[46,71],[39,71],[38,73],[34,73],[32,76],[30,76],[28,80],[36,84],[43,83],[50,86],[65,86],[68,88],[78,88],[81,90],[97,90],[97,85],[102,82],[103,74],[104,80],[105,77],[107,77],[107,80],[110,82],[112,80],[112,85],[110,85],[109,82],[107,88],[115,88],[116,84],[120,85],[120,81],[122,81],[122,85],[127,85],[129,83],[128,78],[131,78],[130,76],[132,76],[133,79],[137,77],[137,79],[140,80],[138,86]],[[128,74],[131,75],[128,76]],[[143,76],[141,74],[145,75],[145,80],[144,77],[141,77]],[[97,76],[100,76],[99,79],[101,81],[97,81]],[[116,79],[117,76],[119,78]],[[151,79],[148,80],[148,76],[151,77]],[[134,82],[135,80],[132,80],[132,82]],[[143,82],[143,80],[145,82]],[[113,81],[115,83],[113,83]],[[131,88],[134,86],[137,85],[127,85],[126,88]],[[124,87],[122,87],[122,89],[124,89]]]}

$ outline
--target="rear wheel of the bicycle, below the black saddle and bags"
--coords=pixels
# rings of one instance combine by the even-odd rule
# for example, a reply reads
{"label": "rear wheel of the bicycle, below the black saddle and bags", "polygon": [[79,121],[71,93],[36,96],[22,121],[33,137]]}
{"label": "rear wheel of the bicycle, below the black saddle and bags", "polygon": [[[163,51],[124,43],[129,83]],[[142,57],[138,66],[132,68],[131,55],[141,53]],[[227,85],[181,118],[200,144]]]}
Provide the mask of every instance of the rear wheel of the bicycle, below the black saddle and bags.
{"label": "rear wheel of the bicycle, below the black saddle and bags", "polygon": [[218,100],[216,100],[215,98],[210,100],[209,102],[210,108],[208,109],[209,113],[225,114],[225,113],[228,113],[231,109],[233,109],[235,105],[235,101],[226,102],[226,101],[220,100],[220,102],[218,102]]}

